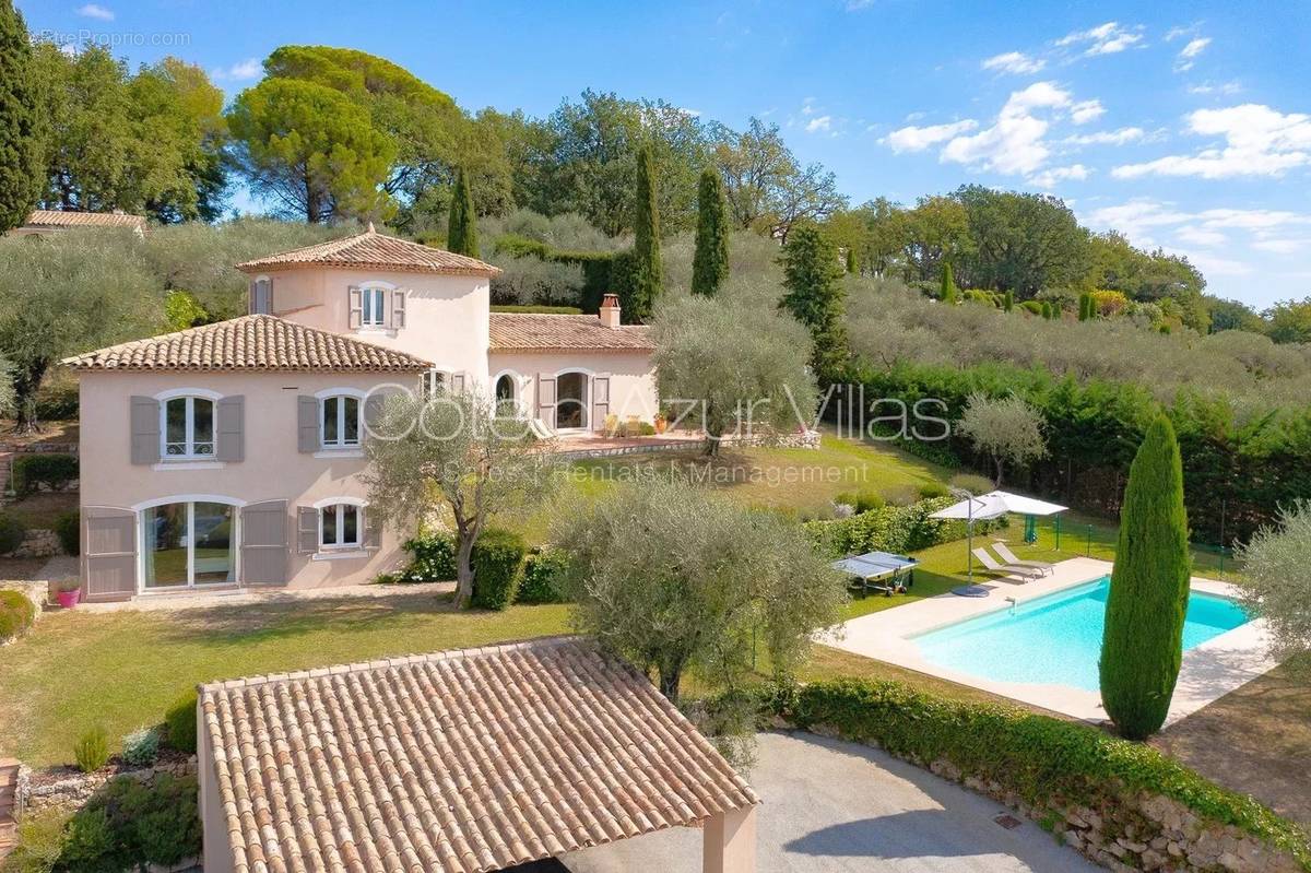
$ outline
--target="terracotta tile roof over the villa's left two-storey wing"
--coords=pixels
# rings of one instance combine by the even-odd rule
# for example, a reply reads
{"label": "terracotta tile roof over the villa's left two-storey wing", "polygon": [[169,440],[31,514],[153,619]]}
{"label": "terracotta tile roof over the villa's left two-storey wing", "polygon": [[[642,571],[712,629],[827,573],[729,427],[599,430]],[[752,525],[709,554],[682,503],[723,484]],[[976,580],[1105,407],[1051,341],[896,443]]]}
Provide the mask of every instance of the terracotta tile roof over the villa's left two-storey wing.
{"label": "terracotta tile roof over the villa's left two-storey wing", "polygon": [[73,370],[422,372],[431,363],[354,337],[249,315],[66,358]]}

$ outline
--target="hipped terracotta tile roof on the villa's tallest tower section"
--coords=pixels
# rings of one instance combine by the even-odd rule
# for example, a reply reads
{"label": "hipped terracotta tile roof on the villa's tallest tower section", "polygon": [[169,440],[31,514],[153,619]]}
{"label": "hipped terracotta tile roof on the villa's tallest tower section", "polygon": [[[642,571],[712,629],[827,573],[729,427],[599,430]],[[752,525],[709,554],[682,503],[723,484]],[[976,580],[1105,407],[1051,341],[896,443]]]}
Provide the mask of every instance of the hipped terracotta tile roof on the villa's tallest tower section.
{"label": "hipped terracotta tile roof on the villa's tallest tower section", "polygon": [[336,266],[486,277],[501,273],[499,267],[484,263],[477,258],[378,233],[372,224],[368,225],[367,231],[355,236],[270,254],[266,258],[239,263],[237,269],[254,273],[294,266]]}

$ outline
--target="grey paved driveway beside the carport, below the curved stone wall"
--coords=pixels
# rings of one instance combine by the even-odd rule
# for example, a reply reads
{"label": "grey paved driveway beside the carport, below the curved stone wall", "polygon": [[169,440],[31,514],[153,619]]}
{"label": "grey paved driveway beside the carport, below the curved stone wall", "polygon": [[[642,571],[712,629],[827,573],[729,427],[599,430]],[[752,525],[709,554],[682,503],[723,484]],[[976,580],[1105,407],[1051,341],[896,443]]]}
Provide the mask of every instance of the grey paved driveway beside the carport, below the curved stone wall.
{"label": "grey paved driveway beside the carport, below the curved stone wall", "polygon": [[[789,870],[1096,870],[999,804],[880,751],[813,734],[759,735],[749,775],[760,873]],[[701,832],[676,828],[564,859],[574,873],[701,869]]]}

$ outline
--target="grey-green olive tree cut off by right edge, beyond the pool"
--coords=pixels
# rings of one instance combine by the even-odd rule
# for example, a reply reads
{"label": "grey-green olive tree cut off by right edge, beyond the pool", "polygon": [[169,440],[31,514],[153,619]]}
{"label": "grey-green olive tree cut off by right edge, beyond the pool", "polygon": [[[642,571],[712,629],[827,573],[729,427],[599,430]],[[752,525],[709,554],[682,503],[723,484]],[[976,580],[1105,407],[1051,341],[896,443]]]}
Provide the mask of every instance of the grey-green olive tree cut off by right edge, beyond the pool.
{"label": "grey-green olive tree cut off by right edge, beyond the pool", "polygon": [[1235,585],[1243,606],[1265,619],[1274,657],[1311,651],[1311,501],[1282,509],[1278,524],[1257,531],[1239,557],[1245,566]]}

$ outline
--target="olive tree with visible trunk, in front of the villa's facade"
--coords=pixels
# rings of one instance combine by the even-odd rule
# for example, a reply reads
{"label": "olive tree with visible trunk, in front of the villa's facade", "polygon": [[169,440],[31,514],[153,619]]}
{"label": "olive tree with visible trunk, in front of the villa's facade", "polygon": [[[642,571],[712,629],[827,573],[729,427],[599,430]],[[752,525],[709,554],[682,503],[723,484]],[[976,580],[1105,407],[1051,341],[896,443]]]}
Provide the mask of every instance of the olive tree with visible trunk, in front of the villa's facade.
{"label": "olive tree with visible trunk, in front of the villa's facade", "polygon": [[414,531],[431,516],[455,528],[456,608],[473,595],[473,545],[488,520],[551,488],[551,446],[510,404],[480,392],[393,392],[366,404],[362,480],[384,524]]}

